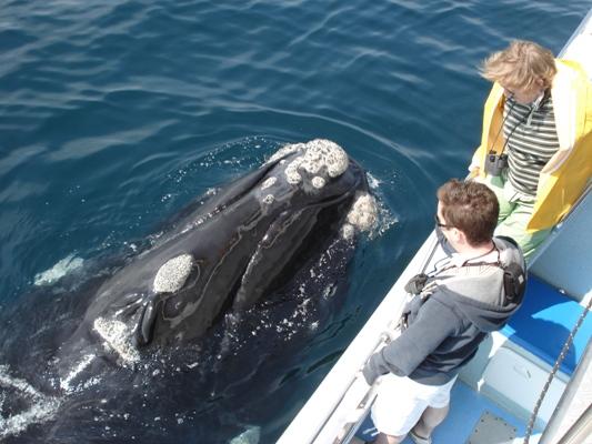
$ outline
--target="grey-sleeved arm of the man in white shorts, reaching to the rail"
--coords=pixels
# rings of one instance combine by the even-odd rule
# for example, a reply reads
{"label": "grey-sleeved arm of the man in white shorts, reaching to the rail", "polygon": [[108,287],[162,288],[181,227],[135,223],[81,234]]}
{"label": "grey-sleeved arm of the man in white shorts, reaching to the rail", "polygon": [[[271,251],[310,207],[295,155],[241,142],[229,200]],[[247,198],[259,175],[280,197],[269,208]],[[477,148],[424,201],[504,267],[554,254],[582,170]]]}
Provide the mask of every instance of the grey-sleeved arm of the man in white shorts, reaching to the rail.
{"label": "grey-sleeved arm of the man in white shorts, reaching to the rail", "polygon": [[446,305],[430,297],[397,340],[370,356],[363,369],[365,381],[372,384],[389,372],[408,376],[454,332],[458,323],[459,319]]}

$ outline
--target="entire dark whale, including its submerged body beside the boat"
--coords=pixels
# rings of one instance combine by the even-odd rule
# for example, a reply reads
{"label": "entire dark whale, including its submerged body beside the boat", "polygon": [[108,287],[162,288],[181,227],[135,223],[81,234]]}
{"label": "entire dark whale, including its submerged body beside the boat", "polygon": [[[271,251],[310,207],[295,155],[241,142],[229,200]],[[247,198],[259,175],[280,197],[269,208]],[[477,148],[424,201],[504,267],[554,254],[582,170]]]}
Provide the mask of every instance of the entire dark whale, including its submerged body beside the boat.
{"label": "entire dark whale, including its submerged body beside the boat", "polygon": [[[178,442],[198,433],[194,417],[228,416],[212,400],[257,402],[245,387],[269,390],[279,370],[268,357],[314,332],[317,301],[304,293],[330,299],[377,221],[367,174],[340,145],[282,147],[76,292],[62,283],[3,313],[36,345],[22,353],[12,337],[0,359],[0,440]],[[139,430],[146,411],[154,422]],[[241,435],[234,421],[220,436],[224,427]]]}

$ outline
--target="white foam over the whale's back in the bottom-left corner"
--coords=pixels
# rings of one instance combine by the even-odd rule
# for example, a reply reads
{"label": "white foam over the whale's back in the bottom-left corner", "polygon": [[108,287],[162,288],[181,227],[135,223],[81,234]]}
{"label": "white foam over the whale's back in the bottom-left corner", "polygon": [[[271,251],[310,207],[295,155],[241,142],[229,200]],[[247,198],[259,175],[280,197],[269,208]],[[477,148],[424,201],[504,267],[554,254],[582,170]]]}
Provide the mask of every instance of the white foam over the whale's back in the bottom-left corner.
{"label": "white foam over the whale's back in the bottom-left corner", "polygon": [[40,393],[27,381],[11,376],[8,366],[0,365],[0,394],[4,390],[18,393],[30,407],[20,413],[4,415],[3,398],[0,396],[0,440],[18,435],[29,425],[51,420],[60,406],[58,398]]}

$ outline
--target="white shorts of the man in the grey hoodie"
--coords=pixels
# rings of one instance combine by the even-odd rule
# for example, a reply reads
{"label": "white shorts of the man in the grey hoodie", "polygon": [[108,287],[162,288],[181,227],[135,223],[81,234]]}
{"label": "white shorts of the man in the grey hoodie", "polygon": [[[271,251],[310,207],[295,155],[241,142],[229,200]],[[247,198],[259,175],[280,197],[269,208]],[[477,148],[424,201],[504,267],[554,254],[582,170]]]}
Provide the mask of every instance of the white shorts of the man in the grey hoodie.
{"label": "white shorts of the man in the grey hoodie", "polygon": [[371,412],[378,431],[392,436],[407,435],[425,408],[442,408],[450,403],[454,381],[455,376],[444,385],[425,385],[409,377],[385,374]]}

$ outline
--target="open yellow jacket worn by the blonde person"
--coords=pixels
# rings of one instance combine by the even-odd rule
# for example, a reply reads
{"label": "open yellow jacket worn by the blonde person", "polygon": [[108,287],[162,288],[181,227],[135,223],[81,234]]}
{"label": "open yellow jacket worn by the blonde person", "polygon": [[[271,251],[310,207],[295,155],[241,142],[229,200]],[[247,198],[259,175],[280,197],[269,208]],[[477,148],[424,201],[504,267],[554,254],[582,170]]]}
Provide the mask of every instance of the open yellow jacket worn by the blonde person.
{"label": "open yellow jacket worn by the blonde person", "polygon": [[[528,232],[549,229],[561,221],[592,176],[592,84],[580,63],[556,60],[555,65],[551,97],[560,148],[541,171]],[[469,168],[473,176],[485,176],[486,153],[493,150],[499,154],[503,149],[503,89],[494,83],[483,112],[481,145]]]}

